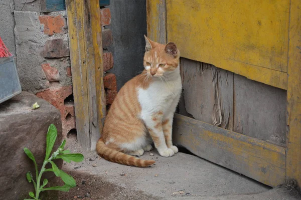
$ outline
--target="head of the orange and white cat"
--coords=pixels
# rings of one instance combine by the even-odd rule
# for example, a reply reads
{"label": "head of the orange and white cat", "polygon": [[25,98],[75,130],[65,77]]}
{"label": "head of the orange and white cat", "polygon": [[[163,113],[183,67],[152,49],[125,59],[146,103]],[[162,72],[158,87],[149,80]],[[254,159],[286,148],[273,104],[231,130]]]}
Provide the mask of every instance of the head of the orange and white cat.
{"label": "head of the orange and white cat", "polygon": [[180,51],[176,44],[161,44],[145,37],[143,65],[150,76],[160,77],[175,71],[179,66]]}

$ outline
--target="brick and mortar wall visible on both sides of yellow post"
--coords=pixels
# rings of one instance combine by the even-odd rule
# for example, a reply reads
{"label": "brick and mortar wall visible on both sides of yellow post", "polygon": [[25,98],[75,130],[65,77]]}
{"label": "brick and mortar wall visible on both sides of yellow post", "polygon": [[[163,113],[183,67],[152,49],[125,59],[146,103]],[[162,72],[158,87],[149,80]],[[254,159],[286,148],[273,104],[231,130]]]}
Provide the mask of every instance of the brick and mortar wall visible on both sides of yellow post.
{"label": "brick and mortar wall visible on both sides of yellow post", "polygon": [[[60,110],[66,137],[76,130],[66,11],[43,13],[39,6],[17,5],[14,11],[16,58],[22,89]],[[107,50],[113,43],[109,28],[111,13],[108,7],[101,7],[100,13],[104,86],[109,108],[117,94],[116,77],[107,73],[114,65],[113,55]]]}

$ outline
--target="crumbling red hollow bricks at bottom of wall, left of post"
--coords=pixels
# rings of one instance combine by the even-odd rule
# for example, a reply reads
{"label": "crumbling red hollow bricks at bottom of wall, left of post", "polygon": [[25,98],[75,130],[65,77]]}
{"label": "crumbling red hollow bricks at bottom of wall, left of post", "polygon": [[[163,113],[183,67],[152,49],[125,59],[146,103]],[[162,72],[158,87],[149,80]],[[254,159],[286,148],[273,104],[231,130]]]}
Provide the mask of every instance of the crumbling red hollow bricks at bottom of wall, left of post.
{"label": "crumbling red hollow bricks at bottom of wall, left of post", "polygon": [[[63,137],[75,128],[74,100],[72,95],[72,86],[53,86],[36,94],[57,107],[61,112]],[[70,97],[69,97],[70,96]],[[68,97],[68,98],[67,98]]]}

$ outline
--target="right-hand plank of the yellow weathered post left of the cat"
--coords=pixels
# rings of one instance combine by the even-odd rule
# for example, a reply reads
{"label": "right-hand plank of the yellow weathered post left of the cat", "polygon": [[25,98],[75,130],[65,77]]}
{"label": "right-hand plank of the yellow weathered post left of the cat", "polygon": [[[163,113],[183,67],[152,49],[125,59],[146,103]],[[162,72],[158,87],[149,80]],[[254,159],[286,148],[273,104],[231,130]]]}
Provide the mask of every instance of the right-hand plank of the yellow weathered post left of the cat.
{"label": "right-hand plank of the yellow weathered post left of the cat", "polygon": [[98,0],[85,0],[85,47],[87,87],[89,98],[90,150],[96,149],[96,142],[103,127],[106,106],[103,86],[102,38],[100,8]]}

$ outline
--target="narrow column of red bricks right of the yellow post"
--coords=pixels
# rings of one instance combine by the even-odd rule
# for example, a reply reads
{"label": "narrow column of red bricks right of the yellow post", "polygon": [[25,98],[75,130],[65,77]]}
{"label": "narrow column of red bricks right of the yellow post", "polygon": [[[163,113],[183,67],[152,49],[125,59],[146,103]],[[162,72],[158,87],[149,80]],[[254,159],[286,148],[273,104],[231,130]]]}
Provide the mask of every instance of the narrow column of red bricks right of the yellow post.
{"label": "narrow column of red bricks right of the yellow post", "polygon": [[106,94],[106,105],[108,110],[117,94],[116,76],[115,74],[108,72],[108,70],[113,68],[114,65],[113,54],[112,52],[109,52],[107,49],[113,43],[112,31],[110,29],[110,24],[111,24],[110,8],[101,7],[100,14],[101,14],[101,26],[102,26],[103,70],[104,70],[103,84],[104,84],[104,89]]}

